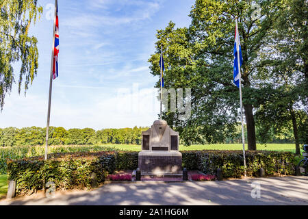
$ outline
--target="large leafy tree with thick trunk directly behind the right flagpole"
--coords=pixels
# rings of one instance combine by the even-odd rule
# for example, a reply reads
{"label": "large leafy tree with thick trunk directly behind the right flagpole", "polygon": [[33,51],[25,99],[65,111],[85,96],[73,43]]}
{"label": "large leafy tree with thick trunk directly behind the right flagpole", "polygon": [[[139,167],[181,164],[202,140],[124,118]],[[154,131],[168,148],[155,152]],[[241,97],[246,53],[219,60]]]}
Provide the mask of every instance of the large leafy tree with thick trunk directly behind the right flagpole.
{"label": "large leafy tree with thick trunk directly behind the right flagpole", "polygon": [[[258,16],[254,5],[259,5]],[[256,149],[255,109],[268,99],[258,68],[283,0],[235,1],[196,0],[189,28],[168,25],[158,31],[157,53],[162,44],[168,69],[167,87],[192,88],[192,117],[173,123],[182,136],[193,142],[218,142],[232,135],[239,120],[239,92],[233,85],[235,17],[238,16],[243,65],[242,86],[248,149]],[[159,54],[152,55],[151,73],[159,75]],[[170,63],[170,64],[169,64]],[[170,120],[172,120],[170,119]],[[169,121],[170,122],[170,121]]]}

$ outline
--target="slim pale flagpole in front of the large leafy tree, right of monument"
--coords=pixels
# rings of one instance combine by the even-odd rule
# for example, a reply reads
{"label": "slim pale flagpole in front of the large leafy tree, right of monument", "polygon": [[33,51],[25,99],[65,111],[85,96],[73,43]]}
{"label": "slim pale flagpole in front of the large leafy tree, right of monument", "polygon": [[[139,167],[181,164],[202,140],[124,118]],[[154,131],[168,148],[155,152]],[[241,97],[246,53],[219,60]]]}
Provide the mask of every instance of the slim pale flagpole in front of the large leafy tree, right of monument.
{"label": "slim pale flagpole in front of the large leafy tree, right of monument", "polygon": [[241,65],[240,65],[240,35],[238,32],[238,16],[235,17],[236,21],[236,50],[238,53],[238,73],[240,74],[239,87],[240,87],[240,105],[241,105],[241,122],[242,122],[242,143],[243,143],[243,157],[244,157],[244,176],[247,176],[246,173],[246,155],[245,155],[245,136],[244,136],[244,120],[243,120],[243,101],[242,101],[242,76],[241,76]]}

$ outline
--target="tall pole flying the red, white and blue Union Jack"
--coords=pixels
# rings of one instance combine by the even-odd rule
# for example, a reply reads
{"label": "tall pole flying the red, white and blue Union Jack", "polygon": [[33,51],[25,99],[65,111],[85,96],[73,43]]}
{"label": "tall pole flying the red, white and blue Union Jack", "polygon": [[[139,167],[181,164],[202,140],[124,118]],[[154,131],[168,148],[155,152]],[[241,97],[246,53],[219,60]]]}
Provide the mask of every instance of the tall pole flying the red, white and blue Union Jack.
{"label": "tall pole flying the red, white and blue Union Jack", "polygon": [[55,18],[53,22],[53,47],[51,52],[51,70],[49,81],[49,100],[48,100],[48,112],[47,112],[47,127],[46,127],[46,146],[45,146],[45,160],[48,159],[48,140],[49,140],[49,120],[50,120],[50,107],[51,107],[51,92],[53,88],[53,55],[55,51],[55,19],[57,16],[57,0],[55,0]]}

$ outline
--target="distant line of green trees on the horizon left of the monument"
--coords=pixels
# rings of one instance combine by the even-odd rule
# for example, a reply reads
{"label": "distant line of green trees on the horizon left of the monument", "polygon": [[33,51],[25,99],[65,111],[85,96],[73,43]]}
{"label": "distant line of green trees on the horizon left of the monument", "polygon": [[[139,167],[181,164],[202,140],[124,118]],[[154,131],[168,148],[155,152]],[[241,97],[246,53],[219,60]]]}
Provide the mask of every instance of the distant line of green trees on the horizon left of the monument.
{"label": "distant line of green trees on the horizon left of the monument", "polygon": [[[141,144],[146,127],[125,129],[64,129],[49,127],[49,145]],[[0,129],[0,146],[34,146],[45,144],[46,128],[9,127]]]}

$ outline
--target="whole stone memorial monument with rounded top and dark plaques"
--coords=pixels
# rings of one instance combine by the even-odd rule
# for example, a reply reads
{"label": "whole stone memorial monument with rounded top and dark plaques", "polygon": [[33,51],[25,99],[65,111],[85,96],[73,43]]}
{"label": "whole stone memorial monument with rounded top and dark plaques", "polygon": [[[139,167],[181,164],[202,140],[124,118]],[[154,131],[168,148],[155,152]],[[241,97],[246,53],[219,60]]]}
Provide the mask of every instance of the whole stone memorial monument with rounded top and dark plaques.
{"label": "whole stone memorial monument with rounded top and dark plaques", "polygon": [[182,174],[182,154],[179,152],[179,133],[165,120],[156,120],[151,129],[142,131],[142,151],[138,167],[142,175]]}

